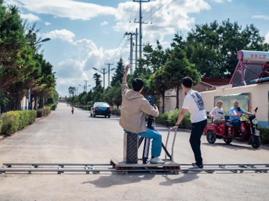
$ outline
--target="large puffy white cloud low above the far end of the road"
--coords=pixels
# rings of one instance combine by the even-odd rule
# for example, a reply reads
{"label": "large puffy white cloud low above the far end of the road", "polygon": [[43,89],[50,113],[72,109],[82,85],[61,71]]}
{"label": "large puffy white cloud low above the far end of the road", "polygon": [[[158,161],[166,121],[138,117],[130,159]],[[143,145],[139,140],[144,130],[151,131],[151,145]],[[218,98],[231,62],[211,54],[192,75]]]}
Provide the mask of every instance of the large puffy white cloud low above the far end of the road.
{"label": "large puffy white cloud low above the far end of the road", "polygon": [[[98,48],[92,40],[82,39],[73,43],[74,46],[78,49],[78,55],[73,56],[72,59],[67,59],[60,62],[57,66],[54,67],[54,70],[57,72],[57,91],[60,94],[66,94],[67,88],[69,86],[78,86],[84,85],[83,80],[89,80],[87,85],[91,85],[89,88],[95,86],[93,80],[93,74],[99,73],[93,69],[96,68],[100,71],[101,68],[105,68],[107,72],[107,66],[105,62],[109,61],[116,65],[116,61],[119,60],[119,54],[121,53],[123,61],[128,63],[124,58],[129,56],[129,44],[128,41],[123,41],[117,49],[104,50],[102,47]],[[114,71],[110,71],[110,81]],[[101,77],[103,81],[103,75]],[[105,74],[105,87],[108,85],[108,73]],[[80,87],[79,91],[82,92],[83,89]]]}

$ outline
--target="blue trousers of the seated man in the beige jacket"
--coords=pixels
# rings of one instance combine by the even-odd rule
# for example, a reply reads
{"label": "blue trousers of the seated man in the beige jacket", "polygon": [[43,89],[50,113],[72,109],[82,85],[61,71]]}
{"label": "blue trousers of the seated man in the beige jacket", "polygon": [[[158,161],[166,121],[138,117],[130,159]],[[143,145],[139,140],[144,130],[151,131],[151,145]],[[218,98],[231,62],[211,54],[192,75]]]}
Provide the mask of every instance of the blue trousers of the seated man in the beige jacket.
{"label": "blue trousers of the seated man in the beige jacket", "polygon": [[[131,133],[125,129],[123,129],[125,133]],[[151,130],[147,128],[148,132],[142,132],[142,133],[135,133],[138,134],[141,137],[145,137],[152,140],[152,149],[151,154],[152,156],[159,157],[161,155],[162,151],[162,135],[158,133],[157,131]]]}

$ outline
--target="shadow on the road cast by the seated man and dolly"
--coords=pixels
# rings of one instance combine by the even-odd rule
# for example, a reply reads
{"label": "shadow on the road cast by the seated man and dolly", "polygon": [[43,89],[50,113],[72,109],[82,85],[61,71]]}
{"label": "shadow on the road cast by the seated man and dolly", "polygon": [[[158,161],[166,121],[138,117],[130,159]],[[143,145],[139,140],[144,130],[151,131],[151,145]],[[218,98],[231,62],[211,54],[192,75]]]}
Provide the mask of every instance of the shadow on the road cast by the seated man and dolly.
{"label": "shadow on the road cast by the seated man and dolly", "polygon": [[110,176],[100,176],[98,179],[94,181],[84,181],[81,184],[91,183],[98,188],[108,188],[113,185],[125,185],[130,183],[138,183],[142,180],[151,180],[155,177],[155,175],[150,174],[127,174],[127,175],[118,175],[118,174],[111,174]]}

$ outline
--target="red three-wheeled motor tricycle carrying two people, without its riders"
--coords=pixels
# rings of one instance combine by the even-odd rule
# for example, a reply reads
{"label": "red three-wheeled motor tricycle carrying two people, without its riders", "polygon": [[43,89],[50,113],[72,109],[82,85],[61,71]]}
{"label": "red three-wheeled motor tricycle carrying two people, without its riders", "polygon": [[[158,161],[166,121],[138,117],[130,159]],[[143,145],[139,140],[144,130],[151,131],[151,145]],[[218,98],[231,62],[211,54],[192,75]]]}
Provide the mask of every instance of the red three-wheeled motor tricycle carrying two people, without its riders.
{"label": "red three-wheeled motor tricycle carrying two people, without its riders", "polygon": [[[238,107],[239,108],[239,107]],[[252,107],[251,107],[252,108]],[[256,108],[254,111],[257,112]],[[238,109],[240,111],[240,108]],[[216,125],[213,124],[213,119],[211,123],[207,123],[204,129],[206,134],[206,139],[209,143],[215,143],[216,139],[223,139],[226,144],[230,144],[233,139],[238,141],[248,141],[253,148],[258,148],[260,146],[259,131],[257,130],[258,121],[256,119],[255,113],[246,117],[247,120],[240,121],[240,130],[238,131],[232,121],[229,120],[230,115],[225,115],[225,123]],[[239,113],[240,116],[242,114]],[[207,112],[207,118],[210,118],[209,112]]]}

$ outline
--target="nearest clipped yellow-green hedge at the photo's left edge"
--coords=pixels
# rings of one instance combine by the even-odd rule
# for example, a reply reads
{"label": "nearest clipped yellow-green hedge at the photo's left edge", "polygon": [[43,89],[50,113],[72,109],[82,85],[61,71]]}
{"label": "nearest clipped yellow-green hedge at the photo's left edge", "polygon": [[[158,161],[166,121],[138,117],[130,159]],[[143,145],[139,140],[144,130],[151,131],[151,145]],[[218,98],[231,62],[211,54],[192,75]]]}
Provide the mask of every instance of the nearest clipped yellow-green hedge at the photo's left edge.
{"label": "nearest clipped yellow-green hedge at the photo's left edge", "polygon": [[10,111],[4,113],[0,121],[2,121],[1,133],[11,135],[18,130],[32,124],[36,120],[36,110]]}

